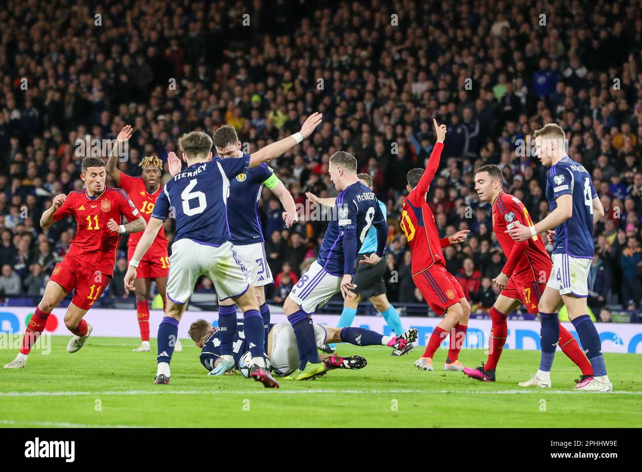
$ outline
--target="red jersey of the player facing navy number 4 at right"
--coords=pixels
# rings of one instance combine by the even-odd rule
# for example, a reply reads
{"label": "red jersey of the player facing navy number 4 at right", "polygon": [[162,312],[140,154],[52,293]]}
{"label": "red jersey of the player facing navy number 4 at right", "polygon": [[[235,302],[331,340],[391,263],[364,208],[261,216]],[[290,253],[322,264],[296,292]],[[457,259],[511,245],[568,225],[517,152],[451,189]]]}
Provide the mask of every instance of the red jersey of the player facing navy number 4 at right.
{"label": "red jersey of the player facing navy number 4 at right", "polygon": [[514,227],[515,222],[533,225],[521,200],[508,193],[499,193],[492,203],[492,231],[508,259],[501,272],[519,282],[547,282],[553,263],[544,248],[542,236],[537,234],[517,243],[504,232]]}

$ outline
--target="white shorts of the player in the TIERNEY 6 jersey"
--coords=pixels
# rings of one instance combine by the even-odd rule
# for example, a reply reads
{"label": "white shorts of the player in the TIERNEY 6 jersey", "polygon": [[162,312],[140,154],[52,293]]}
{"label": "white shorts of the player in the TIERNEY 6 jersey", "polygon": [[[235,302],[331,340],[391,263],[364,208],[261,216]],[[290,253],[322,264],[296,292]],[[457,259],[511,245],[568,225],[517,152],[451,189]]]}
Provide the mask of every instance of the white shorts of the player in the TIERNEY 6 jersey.
{"label": "white shorts of the player in the TIERNEY 6 jersey", "polygon": [[169,265],[167,297],[178,304],[189,301],[196,279],[201,275],[212,279],[219,301],[243,295],[250,286],[250,276],[230,241],[219,247],[187,238],[175,241],[171,245]]}

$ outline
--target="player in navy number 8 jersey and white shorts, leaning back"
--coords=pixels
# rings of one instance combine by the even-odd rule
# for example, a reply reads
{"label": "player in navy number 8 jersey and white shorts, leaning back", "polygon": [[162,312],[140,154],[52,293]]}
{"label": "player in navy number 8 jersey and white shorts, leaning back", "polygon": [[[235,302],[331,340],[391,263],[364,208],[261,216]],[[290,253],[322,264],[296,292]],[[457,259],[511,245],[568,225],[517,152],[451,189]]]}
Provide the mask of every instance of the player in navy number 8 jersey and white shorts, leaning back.
{"label": "player in navy number 8 jersey and white shorts, leaning back", "polygon": [[[377,197],[357,178],[357,160],[350,153],[338,151],[330,157],[330,180],[340,192],[327,226],[319,256],[308,272],[292,288],[283,304],[283,311],[294,329],[299,350],[299,369],[287,378],[306,380],[325,373],[325,365],[317,353],[315,331],[311,316],[334,293],[341,291],[343,299],[354,289],[354,260],[363,245],[370,226],[377,229],[377,250],[360,264],[376,265],[384,255],[388,239],[386,224]],[[405,333],[390,341],[399,349],[408,344]],[[352,342],[352,340],[346,340]]]}

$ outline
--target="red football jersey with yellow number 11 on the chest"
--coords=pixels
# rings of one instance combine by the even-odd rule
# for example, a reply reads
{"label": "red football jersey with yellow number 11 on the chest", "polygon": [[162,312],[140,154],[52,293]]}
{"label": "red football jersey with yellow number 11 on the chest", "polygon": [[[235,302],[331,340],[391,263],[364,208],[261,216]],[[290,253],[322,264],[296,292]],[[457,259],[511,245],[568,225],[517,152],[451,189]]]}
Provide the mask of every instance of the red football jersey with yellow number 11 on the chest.
{"label": "red football jersey with yellow number 11 on the chest", "polygon": [[130,222],[137,220],[140,213],[134,202],[121,189],[107,187],[94,198],[89,198],[85,190],[76,190],[67,195],[53,219],[57,222],[67,215],[76,218],[78,227],[65,257],[92,272],[112,275],[121,236],[109,231],[107,222],[113,218],[121,224],[122,216]]}

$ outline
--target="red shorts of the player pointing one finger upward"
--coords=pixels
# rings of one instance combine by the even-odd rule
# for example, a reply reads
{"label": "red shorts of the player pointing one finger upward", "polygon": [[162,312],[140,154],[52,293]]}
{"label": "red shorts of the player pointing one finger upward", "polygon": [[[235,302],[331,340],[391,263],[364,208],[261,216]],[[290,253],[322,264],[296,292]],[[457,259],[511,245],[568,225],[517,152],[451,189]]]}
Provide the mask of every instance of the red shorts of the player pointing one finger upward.
{"label": "red shorts of the player pointing one finger upward", "polygon": [[446,267],[434,264],[413,277],[419,292],[437,316],[446,313],[446,308],[465,299],[464,290]]}

